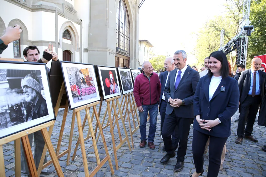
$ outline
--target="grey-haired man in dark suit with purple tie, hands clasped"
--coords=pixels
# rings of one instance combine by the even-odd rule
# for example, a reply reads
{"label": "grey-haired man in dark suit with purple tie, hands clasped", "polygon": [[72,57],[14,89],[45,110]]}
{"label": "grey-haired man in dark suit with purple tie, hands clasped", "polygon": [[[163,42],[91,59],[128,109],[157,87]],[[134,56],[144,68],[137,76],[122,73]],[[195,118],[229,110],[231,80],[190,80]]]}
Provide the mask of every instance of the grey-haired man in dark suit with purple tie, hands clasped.
{"label": "grey-haired man in dark suit with purple tie, hands clasped", "polygon": [[160,162],[165,164],[171,157],[175,156],[171,135],[177,126],[179,147],[176,157],[177,163],[174,170],[181,171],[187,152],[187,136],[189,134],[190,124],[194,119],[193,97],[200,77],[197,71],[191,67],[187,67],[187,54],[185,51],[176,51],[174,54],[174,62],[176,69],[170,72],[164,89],[165,100],[168,103],[162,128],[162,137],[167,154]]}

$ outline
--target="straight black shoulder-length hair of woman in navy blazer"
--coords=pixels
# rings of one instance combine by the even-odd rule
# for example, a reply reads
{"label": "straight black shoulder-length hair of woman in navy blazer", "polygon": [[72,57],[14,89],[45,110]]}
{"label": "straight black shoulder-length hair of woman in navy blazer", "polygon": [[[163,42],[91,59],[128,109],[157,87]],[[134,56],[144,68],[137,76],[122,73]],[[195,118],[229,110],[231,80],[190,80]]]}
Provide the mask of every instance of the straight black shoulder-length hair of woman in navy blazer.
{"label": "straight black shoulder-length hair of woman in navy blazer", "polygon": [[[228,65],[228,61],[227,61],[227,57],[226,57],[225,53],[223,53],[222,51],[215,51],[215,52],[211,53],[209,58],[210,57],[216,58],[218,61],[221,61],[221,64],[222,64],[221,76],[222,76],[222,78],[227,77],[228,73],[229,73],[229,65]],[[210,69],[209,69],[207,75],[212,77],[213,73]]]}

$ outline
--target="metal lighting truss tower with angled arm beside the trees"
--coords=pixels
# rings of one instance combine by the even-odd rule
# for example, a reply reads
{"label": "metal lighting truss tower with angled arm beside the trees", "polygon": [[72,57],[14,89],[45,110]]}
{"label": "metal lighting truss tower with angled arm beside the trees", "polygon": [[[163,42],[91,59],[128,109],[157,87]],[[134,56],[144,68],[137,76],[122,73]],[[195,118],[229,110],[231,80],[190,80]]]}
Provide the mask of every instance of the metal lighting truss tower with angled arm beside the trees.
{"label": "metal lighting truss tower with angled arm beside the trees", "polygon": [[251,35],[251,32],[254,31],[254,27],[249,26],[249,14],[250,14],[250,1],[244,0],[243,2],[243,19],[242,27],[238,34],[233,37],[229,42],[223,45],[224,40],[224,29],[221,30],[221,41],[219,51],[225,52],[228,54],[233,50],[237,49],[237,59],[236,64],[246,65],[247,62],[247,52],[248,52],[248,36]]}

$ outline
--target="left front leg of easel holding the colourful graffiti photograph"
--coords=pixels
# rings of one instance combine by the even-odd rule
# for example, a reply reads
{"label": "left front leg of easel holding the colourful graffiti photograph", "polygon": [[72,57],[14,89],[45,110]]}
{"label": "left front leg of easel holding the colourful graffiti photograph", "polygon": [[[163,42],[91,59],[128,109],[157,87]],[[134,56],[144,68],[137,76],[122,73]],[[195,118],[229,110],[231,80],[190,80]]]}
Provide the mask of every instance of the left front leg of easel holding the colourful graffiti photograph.
{"label": "left front leg of easel holding the colourful graffiti photograph", "polygon": [[78,124],[78,130],[79,130],[79,140],[80,140],[80,147],[81,147],[81,154],[83,159],[83,166],[84,166],[84,172],[85,177],[89,177],[89,169],[88,169],[88,162],[87,162],[87,156],[86,156],[86,150],[84,145],[84,138],[83,138],[83,131],[81,126],[81,119],[80,119],[80,112],[76,112],[77,116],[77,124]]}

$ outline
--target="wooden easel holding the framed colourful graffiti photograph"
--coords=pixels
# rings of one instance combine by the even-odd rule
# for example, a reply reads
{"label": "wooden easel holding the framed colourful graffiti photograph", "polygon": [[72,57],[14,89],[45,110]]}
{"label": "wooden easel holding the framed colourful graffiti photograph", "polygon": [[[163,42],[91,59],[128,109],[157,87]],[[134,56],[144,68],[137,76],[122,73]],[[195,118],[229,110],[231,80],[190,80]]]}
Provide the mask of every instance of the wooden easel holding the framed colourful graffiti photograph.
{"label": "wooden easel holding the framed colourful graffiti photograph", "polygon": [[[105,162],[107,160],[109,162],[109,166],[110,166],[110,169],[111,169],[111,173],[112,174],[115,174],[115,171],[114,171],[113,166],[112,166],[111,158],[110,158],[110,155],[109,155],[109,152],[108,152],[108,149],[107,149],[107,145],[106,145],[106,142],[105,142],[105,138],[104,138],[104,134],[103,134],[103,131],[101,129],[101,126],[99,126],[99,130],[100,130],[100,135],[102,137],[103,144],[104,144],[104,148],[105,148],[105,153],[106,153],[105,158],[101,162],[100,162],[100,157],[99,157],[99,153],[98,153],[98,149],[97,149],[97,145],[96,145],[96,141],[95,141],[95,134],[94,134],[93,126],[92,126],[92,120],[91,120],[91,117],[90,117],[89,108],[90,107],[93,108],[93,112],[94,112],[94,115],[95,115],[97,124],[100,125],[100,120],[99,120],[98,113],[97,113],[97,110],[96,110],[96,105],[98,105],[99,103],[100,103],[99,101],[96,101],[94,103],[90,103],[88,105],[85,105],[85,106],[81,106],[79,108],[76,108],[76,109],[73,110],[73,115],[72,115],[71,129],[74,128],[74,119],[75,119],[75,116],[77,117],[77,124],[78,124],[78,130],[79,130],[79,143],[80,143],[80,147],[81,147],[81,154],[82,154],[83,165],[84,165],[84,172],[85,172],[85,176],[86,177],[94,176],[99,171],[99,169],[105,164]],[[95,152],[95,157],[96,157],[96,162],[97,162],[97,166],[91,172],[91,175],[89,175],[89,169],[88,169],[88,163],[87,163],[87,156],[86,156],[85,145],[84,145],[84,138],[83,138],[83,128],[81,126],[81,118],[80,118],[80,111],[81,110],[84,110],[84,109],[86,111],[85,119],[87,119],[88,120],[88,123],[89,123],[89,131],[88,131],[88,134],[89,133],[91,134],[89,137],[91,137],[91,139],[92,139],[92,144],[93,144],[93,147],[94,147],[94,152]],[[69,145],[71,145],[71,143],[72,143],[72,136],[70,136],[70,137],[71,137],[71,139],[69,140]]]}

